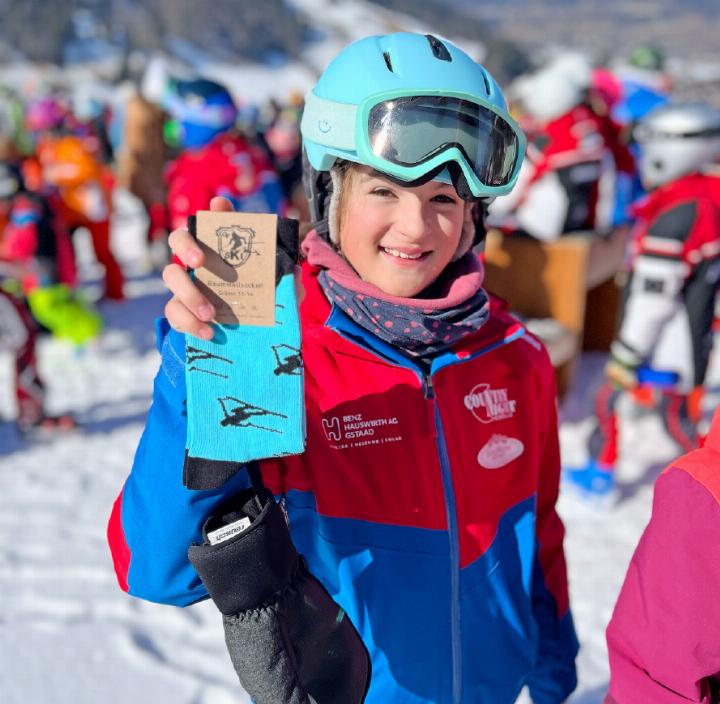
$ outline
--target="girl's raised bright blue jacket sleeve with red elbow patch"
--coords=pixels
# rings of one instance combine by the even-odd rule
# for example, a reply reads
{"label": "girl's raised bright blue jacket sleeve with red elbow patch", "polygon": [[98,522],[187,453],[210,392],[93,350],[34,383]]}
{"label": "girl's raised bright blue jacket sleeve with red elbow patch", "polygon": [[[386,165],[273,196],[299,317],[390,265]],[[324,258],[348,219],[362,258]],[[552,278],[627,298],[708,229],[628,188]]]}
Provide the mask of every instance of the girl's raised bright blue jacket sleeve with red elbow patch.
{"label": "girl's raised bright blue jacket sleeve with red elbow patch", "polygon": [[215,505],[248,485],[239,472],[222,487],[192,491],[183,486],[187,418],[185,338],[157,324],[162,361],[153,403],[133,467],[115,501],[108,542],[121,588],[133,596],[185,606],[207,596],[187,558],[202,541],[202,525]]}

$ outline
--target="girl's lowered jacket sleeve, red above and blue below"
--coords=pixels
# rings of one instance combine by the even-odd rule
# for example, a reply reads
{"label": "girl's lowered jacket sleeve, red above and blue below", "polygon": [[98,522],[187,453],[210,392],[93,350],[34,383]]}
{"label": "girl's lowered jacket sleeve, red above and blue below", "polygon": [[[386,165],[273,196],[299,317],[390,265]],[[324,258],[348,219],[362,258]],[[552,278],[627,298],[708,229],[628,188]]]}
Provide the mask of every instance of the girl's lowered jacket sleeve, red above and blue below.
{"label": "girl's lowered jacket sleeve, red above and blue below", "polygon": [[535,704],[560,704],[577,686],[575,657],[579,645],[568,599],[563,550],[565,528],[555,509],[560,484],[560,448],[555,384],[549,361],[543,371],[547,411],[538,473],[537,549],[532,579],[538,653],[527,685]]}

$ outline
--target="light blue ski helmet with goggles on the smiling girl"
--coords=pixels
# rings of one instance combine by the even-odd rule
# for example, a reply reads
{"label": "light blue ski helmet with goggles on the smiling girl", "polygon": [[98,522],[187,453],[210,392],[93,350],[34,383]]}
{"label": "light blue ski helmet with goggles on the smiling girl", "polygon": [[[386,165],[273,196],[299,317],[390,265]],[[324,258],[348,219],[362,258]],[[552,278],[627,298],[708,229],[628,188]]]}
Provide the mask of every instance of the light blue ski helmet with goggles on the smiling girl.
{"label": "light blue ski helmet with goggles on the smiling girl", "polygon": [[311,207],[322,206],[318,175],[337,160],[404,185],[449,177],[475,201],[508,193],[525,152],[493,77],[450,42],[422,34],[366,37],[341,51],[308,93],[301,131]]}

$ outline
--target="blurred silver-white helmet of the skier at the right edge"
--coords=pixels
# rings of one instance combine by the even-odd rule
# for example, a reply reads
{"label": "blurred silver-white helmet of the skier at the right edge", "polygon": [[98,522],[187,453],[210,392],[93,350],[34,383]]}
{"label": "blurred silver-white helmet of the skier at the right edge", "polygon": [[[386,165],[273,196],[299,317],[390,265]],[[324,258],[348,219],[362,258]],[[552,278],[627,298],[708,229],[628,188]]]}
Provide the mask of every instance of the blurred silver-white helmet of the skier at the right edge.
{"label": "blurred silver-white helmet of the skier at the right edge", "polygon": [[699,171],[720,157],[720,110],[707,103],[668,103],[635,127],[638,169],[652,189]]}

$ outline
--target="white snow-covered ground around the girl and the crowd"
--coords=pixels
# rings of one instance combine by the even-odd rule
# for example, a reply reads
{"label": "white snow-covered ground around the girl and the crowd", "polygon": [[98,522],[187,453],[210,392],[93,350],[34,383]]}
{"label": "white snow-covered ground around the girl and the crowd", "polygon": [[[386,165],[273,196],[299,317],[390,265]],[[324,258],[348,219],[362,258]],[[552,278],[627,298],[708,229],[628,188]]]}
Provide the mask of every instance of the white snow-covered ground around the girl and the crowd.
{"label": "white snow-covered ground around the girl and the crowd", "polygon": [[[245,704],[215,608],[127,597],[106,547],[106,521],[150,403],[158,362],[152,321],[166,299],[159,276],[143,262],[136,205],[126,197],[117,207],[113,241],[130,278],[129,300],[103,305],[106,331],[84,350],[49,339],[40,344],[51,410],[76,413],[82,431],[21,442],[7,420],[14,412],[10,360],[0,357],[0,701]],[[97,270],[85,250],[83,272],[93,279]],[[602,355],[583,358],[563,408],[566,462],[582,459],[602,362]],[[560,500],[582,643],[574,704],[601,702],[608,676],[604,628],[649,516],[652,479],[677,454],[654,418],[634,418],[631,429],[618,497],[591,505],[564,491]]]}

